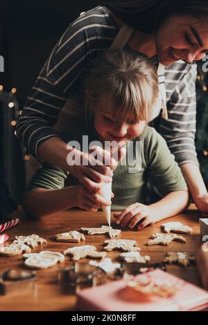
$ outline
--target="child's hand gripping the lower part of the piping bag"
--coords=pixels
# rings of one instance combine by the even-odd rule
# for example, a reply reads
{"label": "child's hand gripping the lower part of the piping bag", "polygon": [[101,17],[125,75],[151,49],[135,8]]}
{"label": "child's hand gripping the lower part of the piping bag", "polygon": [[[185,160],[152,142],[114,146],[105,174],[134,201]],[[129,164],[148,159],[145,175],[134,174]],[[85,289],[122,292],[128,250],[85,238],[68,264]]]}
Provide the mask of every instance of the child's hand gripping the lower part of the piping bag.
{"label": "child's hand gripping the lower part of the piping bag", "polygon": [[[81,209],[96,212],[101,205],[111,205],[111,201],[106,201],[98,192],[90,191],[84,185],[78,185],[76,189],[76,206]],[[114,197],[113,193],[111,197]]]}

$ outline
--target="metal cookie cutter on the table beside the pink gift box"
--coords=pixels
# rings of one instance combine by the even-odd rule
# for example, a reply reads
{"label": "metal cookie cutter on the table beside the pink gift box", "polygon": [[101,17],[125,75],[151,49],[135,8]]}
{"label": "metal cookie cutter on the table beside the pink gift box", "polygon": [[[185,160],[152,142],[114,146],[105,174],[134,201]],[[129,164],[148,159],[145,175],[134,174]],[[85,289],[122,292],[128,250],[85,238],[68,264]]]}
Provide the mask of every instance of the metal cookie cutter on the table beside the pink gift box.
{"label": "metal cookie cutter on the table beside the pink gift box", "polygon": [[69,284],[75,290],[90,286],[99,286],[105,284],[107,274],[97,266],[91,266],[89,263],[73,263],[69,268],[62,268],[58,271],[58,282],[60,284]]}

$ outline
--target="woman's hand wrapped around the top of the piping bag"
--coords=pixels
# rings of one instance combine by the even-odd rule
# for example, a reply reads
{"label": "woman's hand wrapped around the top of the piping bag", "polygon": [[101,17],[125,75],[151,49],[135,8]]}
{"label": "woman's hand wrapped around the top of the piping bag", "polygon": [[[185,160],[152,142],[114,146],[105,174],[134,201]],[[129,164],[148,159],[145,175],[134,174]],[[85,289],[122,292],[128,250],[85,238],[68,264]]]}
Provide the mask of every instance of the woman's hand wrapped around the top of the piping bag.
{"label": "woman's hand wrapped around the top of the piping bag", "polygon": [[[71,157],[75,156],[73,160]],[[126,151],[118,147],[113,153],[95,146],[84,154],[76,149],[67,156],[69,171],[78,178],[87,189],[100,191],[102,183],[112,182],[112,170],[116,168],[119,160],[123,159]],[[70,167],[71,166],[71,167]]]}

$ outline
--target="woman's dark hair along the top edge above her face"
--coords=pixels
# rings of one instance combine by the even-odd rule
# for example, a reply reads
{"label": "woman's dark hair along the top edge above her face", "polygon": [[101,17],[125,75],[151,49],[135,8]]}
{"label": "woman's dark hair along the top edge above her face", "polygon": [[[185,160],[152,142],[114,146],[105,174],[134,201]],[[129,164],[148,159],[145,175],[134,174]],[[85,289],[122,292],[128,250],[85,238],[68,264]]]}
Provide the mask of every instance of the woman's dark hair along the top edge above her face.
{"label": "woman's dark hair along the top edge above her face", "polygon": [[125,23],[146,33],[157,30],[170,15],[208,17],[207,0],[112,0],[103,6]]}

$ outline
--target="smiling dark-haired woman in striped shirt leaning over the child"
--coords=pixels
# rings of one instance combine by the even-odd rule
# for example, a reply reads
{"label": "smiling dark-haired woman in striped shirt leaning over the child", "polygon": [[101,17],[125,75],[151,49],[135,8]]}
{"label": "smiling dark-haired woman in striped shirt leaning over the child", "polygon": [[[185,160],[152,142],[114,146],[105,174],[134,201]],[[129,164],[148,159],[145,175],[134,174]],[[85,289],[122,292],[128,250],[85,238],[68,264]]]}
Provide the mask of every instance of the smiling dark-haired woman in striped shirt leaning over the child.
{"label": "smiling dark-haired woman in striped shirt leaning over the child", "polygon": [[[208,8],[205,0],[138,0],[89,10],[69,25],[37,77],[17,125],[17,135],[36,157],[62,167],[80,183],[94,191],[98,182],[111,181],[111,168],[105,165],[68,165],[67,148],[59,133],[52,129],[58,115],[66,118],[63,107],[68,98],[71,121],[83,118],[82,80],[87,66],[101,50],[110,48],[123,23],[133,31],[124,48],[132,48],[166,66],[166,108],[160,133],[175,155],[193,200],[202,212],[208,212],[208,194],[202,180],[194,138],[196,132],[196,65],[208,49]],[[163,81],[161,81],[163,82]],[[73,109],[76,107],[76,110]],[[69,108],[69,105],[68,105]],[[65,114],[65,115],[64,115]],[[68,117],[69,118],[69,117]],[[122,134],[121,134],[122,138]],[[80,152],[88,160],[88,155]],[[90,167],[90,168],[89,168]]]}

